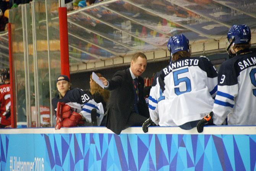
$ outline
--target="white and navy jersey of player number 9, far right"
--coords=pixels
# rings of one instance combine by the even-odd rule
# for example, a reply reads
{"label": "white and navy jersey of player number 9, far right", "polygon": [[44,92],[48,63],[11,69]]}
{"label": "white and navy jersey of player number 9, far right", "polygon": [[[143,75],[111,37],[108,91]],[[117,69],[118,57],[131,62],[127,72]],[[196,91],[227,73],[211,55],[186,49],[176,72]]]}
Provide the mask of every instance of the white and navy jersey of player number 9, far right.
{"label": "white and navy jersey of player number 9, far right", "polygon": [[256,50],[245,50],[220,66],[213,120],[221,125],[256,125]]}

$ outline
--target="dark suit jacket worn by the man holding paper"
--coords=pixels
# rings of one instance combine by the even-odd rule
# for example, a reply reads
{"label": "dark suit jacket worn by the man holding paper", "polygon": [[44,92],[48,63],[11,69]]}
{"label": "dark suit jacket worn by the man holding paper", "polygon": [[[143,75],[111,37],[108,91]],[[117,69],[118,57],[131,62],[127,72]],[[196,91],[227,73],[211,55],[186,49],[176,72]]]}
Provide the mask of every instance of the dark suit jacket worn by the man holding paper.
{"label": "dark suit jacket worn by the man holding paper", "polygon": [[[106,127],[114,133],[120,134],[130,117],[134,105],[133,78],[129,68],[118,71],[109,81],[110,98],[107,105]],[[140,115],[149,118],[149,110],[143,97],[144,80],[138,77],[139,102],[138,111]]]}

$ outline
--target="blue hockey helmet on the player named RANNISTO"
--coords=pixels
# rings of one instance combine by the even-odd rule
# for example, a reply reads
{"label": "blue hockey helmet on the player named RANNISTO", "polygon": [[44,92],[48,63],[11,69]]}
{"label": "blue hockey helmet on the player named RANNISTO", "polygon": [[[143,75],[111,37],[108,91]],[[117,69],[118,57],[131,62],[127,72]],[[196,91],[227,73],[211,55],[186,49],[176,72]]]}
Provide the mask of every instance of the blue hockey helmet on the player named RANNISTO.
{"label": "blue hockey helmet on the player named RANNISTO", "polygon": [[171,56],[178,51],[187,51],[189,53],[189,40],[183,34],[171,36],[168,40],[167,48],[170,51]]}

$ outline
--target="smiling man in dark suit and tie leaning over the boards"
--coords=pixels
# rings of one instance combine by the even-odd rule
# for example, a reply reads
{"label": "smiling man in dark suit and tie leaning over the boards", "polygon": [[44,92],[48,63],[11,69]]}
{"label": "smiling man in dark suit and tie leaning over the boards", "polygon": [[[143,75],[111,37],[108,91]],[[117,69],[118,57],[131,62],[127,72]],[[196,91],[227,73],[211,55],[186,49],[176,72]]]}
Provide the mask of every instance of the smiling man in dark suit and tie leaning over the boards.
{"label": "smiling man in dark suit and tie leaning over the boards", "polygon": [[111,80],[99,78],[110,90],[106,126],[116,134],[129,126],[141,126],[149,117],[143,96],[144,80],[140,77],[146,66],[146,55],[136,53],[130,68],[116,72]]}

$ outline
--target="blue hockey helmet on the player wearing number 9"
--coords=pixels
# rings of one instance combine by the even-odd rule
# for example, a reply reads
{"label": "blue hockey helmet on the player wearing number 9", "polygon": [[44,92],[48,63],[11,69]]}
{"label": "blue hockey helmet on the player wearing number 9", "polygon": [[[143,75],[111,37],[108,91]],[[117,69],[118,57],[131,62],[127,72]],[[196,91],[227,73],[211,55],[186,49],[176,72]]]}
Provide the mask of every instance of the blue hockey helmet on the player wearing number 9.
{"label": "blue hockey helmet on the player wearing number 9", "polygon": [[227,34],[227,52],[230,54],[230,46],[251,41],[251,29],[246,24],[233,25]]}

